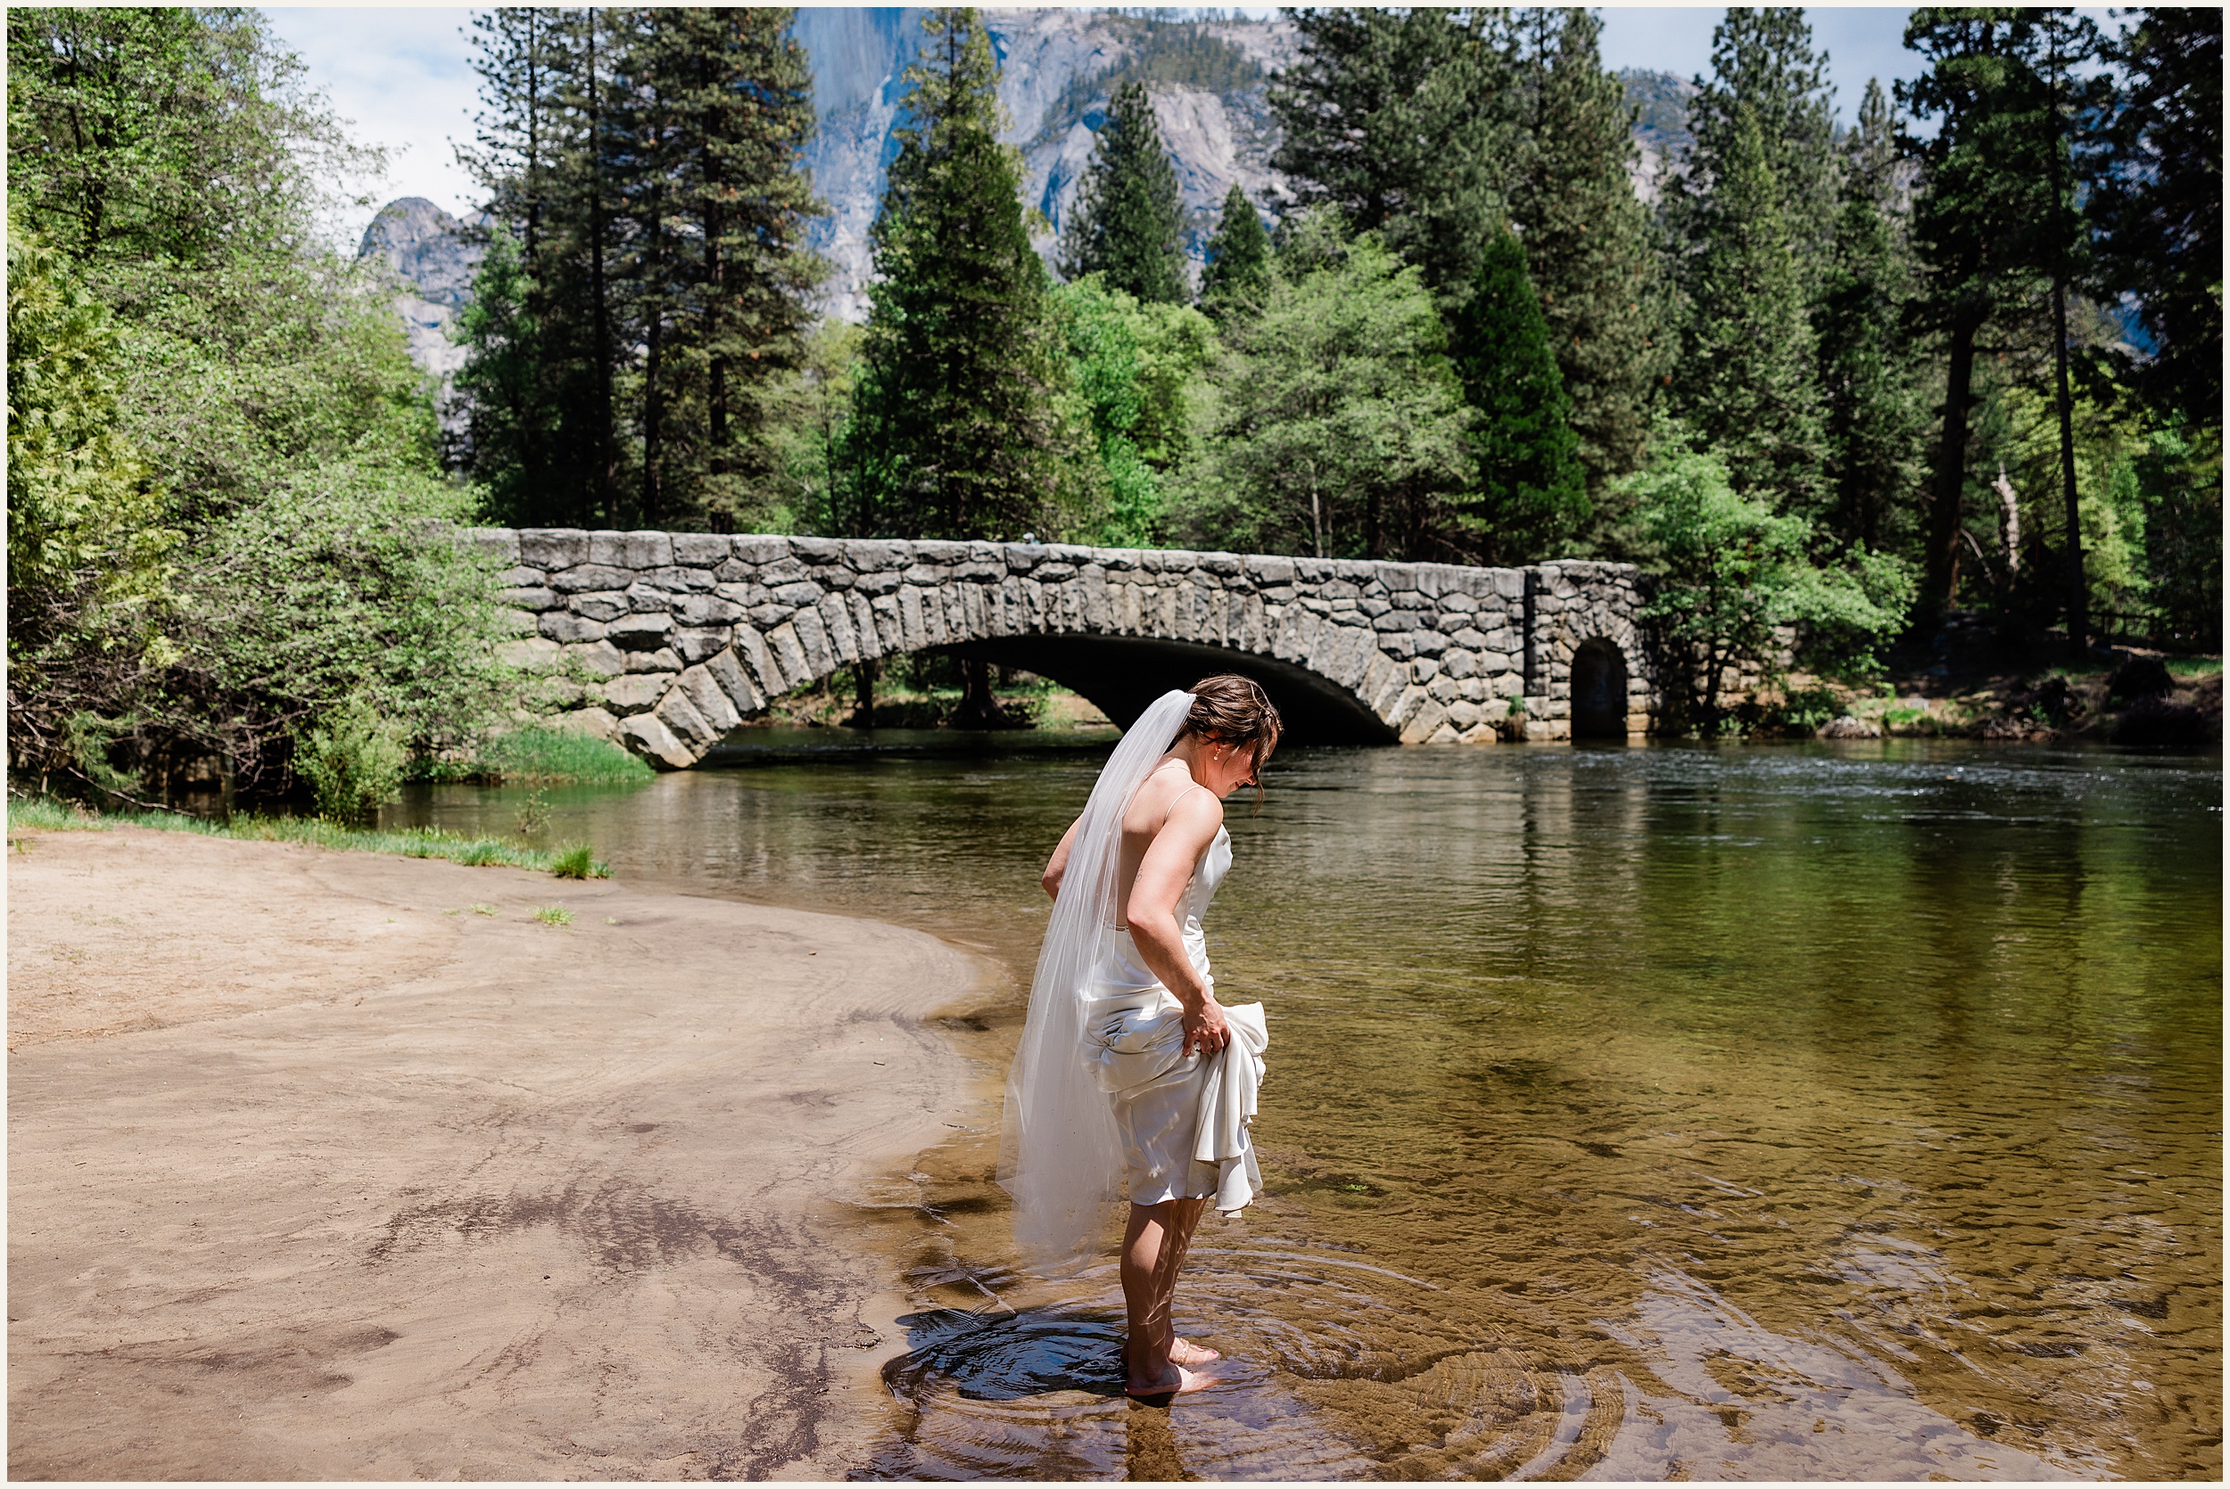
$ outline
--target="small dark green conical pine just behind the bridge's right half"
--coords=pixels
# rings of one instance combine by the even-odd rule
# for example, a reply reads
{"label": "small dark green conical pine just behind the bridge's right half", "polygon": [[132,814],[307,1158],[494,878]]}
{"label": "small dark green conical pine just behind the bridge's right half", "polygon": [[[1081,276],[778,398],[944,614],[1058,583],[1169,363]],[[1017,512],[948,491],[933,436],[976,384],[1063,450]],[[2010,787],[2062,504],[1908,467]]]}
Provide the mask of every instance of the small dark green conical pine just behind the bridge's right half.
{"label": "small dark green conical pine just behind the bridge's right half", "polygon": [[1548,321],[1507,227],[1478,261],[1472,296],[1450,325],[1450,359],[1478,412],[1472,455],[1478,502],[1467,513],[1487,564],[1557,557],[1588,519],[1586,470]]}

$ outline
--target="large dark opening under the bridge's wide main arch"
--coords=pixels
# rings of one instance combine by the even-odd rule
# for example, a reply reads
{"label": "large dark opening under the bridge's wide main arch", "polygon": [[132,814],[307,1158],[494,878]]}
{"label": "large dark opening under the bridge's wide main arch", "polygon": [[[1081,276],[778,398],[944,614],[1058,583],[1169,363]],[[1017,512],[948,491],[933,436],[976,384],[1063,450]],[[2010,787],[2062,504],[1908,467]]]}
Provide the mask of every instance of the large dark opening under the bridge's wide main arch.
{"label": "large dark opening under the bridge's wide main arch", "polygon": [[1155,698],[1213,673],[1253,678],[1278,704],[1289,744],[1394,744],[1396,733],[1360,698],[1273,658],[1131,635],[1010,635],[952,646],[963,658],[1019,666],[1090,700],[1128,729]]}

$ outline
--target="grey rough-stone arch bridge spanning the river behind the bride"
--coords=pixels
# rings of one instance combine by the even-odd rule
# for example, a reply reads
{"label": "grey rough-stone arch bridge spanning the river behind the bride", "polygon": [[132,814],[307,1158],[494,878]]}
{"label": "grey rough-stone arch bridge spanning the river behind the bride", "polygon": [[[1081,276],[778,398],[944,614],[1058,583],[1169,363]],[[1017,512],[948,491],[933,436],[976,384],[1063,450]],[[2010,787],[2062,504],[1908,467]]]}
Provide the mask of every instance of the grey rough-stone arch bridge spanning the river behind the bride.
{"label": "grey rough-stone arch bridge spanning the river behind the bride", "polygon": [[1461,568],[1169,548],[477,528],[531,664],[602,695],[571,722],[696,765],[772,698],[914,651],[1053,678],[1117,724],[1211,671],[1291,738],[1626,738],[1657,689],[1628,564]]}

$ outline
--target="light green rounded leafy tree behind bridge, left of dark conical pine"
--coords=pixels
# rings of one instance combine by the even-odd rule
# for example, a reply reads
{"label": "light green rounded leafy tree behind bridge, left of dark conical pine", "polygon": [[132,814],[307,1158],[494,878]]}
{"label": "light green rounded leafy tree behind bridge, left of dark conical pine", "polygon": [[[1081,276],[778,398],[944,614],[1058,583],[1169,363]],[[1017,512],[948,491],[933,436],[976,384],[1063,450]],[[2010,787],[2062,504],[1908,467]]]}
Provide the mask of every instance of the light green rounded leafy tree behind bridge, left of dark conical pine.
{"label": "light green rounded leafy tree behind bridge, left of dark conical pine", "polygon": [[1414,267],[1309,214],[1209,366],[1184,522],[1224,548],[1465,559],[1470,408]]}

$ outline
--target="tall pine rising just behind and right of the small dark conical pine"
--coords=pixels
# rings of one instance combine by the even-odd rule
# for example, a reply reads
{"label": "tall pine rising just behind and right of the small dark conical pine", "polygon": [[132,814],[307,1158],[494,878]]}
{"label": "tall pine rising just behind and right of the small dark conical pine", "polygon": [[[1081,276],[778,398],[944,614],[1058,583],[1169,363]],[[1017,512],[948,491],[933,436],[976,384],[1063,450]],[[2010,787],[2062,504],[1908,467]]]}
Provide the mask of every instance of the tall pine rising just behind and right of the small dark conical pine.
{"label": "tall pine rising just behind and right of the small dark conical pine", "polygon": [[1603,71],[1601,22],[1581,9],[1530,11],[1528,152],[1512,216],[1548,321],[1590,493],[1641,464],[1655,343],[1655,252],[1635,196],[1632,107]]}

